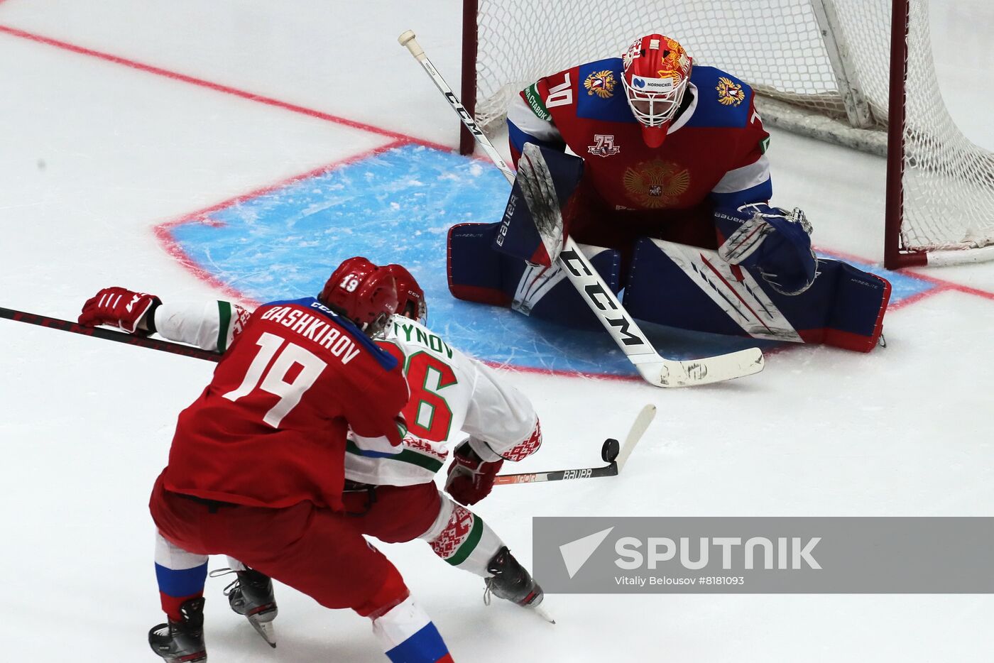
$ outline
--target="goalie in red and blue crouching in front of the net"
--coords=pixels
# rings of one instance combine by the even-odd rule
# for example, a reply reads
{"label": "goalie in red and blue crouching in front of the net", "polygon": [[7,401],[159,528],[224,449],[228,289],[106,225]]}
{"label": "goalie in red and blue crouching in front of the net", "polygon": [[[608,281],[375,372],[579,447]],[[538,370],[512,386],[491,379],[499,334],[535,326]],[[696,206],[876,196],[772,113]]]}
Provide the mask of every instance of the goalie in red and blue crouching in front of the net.
{"label": "goalie in red and blue crouching in front of the net", "polygon": [[[819,263],[804,213],[769,205],[769,134],[752,89],[695,65],[676,40],[646,35],[620,58],[539,79],[512,98],[508,133],[519,177],[525,145],[541,147],[565,234],[606,283],[624,289],[636,318],[854,350],[876,345],[890,284],[837,260]],[[536,238],[513,240],[515,224],[534,221],[534,204],[516,185],[503,224],[453,227],[449,287],[459,298],[595,326],[569,282],[557,282],[558,267],[535,259]]]}

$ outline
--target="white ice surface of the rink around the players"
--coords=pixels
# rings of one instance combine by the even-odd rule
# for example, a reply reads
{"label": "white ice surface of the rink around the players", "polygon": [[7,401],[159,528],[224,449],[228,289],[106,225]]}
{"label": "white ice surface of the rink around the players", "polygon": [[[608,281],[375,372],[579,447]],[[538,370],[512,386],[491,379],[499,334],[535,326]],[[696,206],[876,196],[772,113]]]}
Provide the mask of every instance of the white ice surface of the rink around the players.
{"label": "white ice surface of the rink around the players", "polygon": [[[994,15],[955,4],[933,28],[955,73],[945,91],[994,145]],[[0,26],[454,145],[449,109],[395,40],[413,28],[454,84],[459,11],[0,0]],[[159,248],[156,224],[390,140],[3,33],[0,90],[0,305],[63,318],[117,283],[218,296]],[[808,212],[820,246],[880,257],[882,161],[779,132],[770,158],[776,200]],[[990,264],[929,273],[994,289]],[[642,404],[659,416],[623,478],[499,487],[479,512],[526,564],[530,516],[994,515],[992,328],[994,301],[947,291],[889,313],[886,350],[792,349],[739,383],[509,372],[546,430],[522,470],[594,463]],[[2,320],[0,344],[0,660],[155,660],[147,495],[212,366]],[[987,595],[552,595],[552,626],[484,607],[480,581],[421,544],[385,548],[457,661],[980,661],[994,647]],[[270,650],[222,586],[208,583],[212,661],[384,660],[364,619],[285,586]]]}

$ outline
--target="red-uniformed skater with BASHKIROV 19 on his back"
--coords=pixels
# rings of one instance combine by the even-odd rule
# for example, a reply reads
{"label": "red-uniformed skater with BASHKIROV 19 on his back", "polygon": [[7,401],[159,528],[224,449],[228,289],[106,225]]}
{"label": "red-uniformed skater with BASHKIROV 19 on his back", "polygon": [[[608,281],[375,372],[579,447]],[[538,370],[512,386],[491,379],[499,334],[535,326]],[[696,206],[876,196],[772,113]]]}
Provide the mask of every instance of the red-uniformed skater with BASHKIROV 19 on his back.
{"label": "red-uniformed skater with BASHKIROV 19 on his back", "polygon": [[[176,334],[203,338],[203,325],[166,319],[157,314],[160,304],[152,295],[106,288],[84,304],[80,322],[136,333],[172,325]],[[213,554],[240,560],[264,579],[240,574],[232,600],[263,637],[271,637],[275,616],[274,602],[259,600],[271,599],[269,577],[327,607],[370,617],[395,662],[452,660],[397,569],[343,512],[348,429],[390,444],[406,432],[402,367],[370,339],[397,304],[394,277],[365,258],[343,262],[317,298],[270,302],[250,317],[216,304],[219,318],[234,314],[236,321],[214,337],[224,357],[180,414],[149,505],[169,617],[149,632],[149,644],[168,663],[207,658],[202,594]]]}

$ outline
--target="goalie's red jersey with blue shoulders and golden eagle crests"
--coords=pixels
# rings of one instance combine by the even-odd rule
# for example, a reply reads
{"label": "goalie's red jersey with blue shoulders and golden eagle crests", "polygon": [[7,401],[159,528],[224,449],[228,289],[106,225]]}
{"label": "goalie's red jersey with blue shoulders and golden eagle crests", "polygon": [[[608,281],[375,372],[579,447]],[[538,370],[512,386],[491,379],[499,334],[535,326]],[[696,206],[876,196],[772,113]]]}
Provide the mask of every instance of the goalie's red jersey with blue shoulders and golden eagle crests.
{"label": "goalie's red jersey with blue shoulders and golden eagle crests", "polygon": [[579,242],[612,246],[611,229],[594,228],[607,225],[622,235],[630,230],[632,239],[714,246],[715,208],[765,202],[771,194],[769,134],[751,88],[721,70],[694,67],[682,111],[652,148],[628,107],[621,69],[620,58],[609,58],[522,90],[508,109],[515,164],[527,142],[569,147],[583,158],[580,199],[567,211]]}

